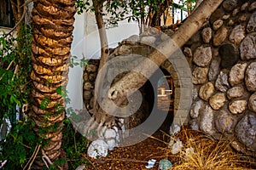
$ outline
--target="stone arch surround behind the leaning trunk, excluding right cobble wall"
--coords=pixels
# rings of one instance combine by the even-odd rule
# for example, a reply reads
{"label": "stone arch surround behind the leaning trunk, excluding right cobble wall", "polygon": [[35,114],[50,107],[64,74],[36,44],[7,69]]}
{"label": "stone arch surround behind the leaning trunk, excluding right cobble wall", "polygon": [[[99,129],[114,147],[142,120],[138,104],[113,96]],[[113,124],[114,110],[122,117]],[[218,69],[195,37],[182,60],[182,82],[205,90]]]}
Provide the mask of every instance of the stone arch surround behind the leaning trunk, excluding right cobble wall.
{"label": "stone arch surround behind the leaning trunk, excluding right cobble wall", "polygon": [[[166,38],[170,38],[172,33],[173,31],[167,27],[163,28],[163,31],[150,28],[140,36],[134,35],[120,42],[119,47],[111,50],[109,56],[110,61],[108,62],[108,72],[104,82],[111,84],[119,79],[119,73],[123,73],[125,70],[132,71],[132,69],[137,66],[144,57],[150,54],[160,42],[163,42]],[[175,124],[188,122],[189,109],[192,103],[190,95],[192,93],[191,71],[182,51],[180,51],[180,55],[182,56],[179,56],[177,53],[177,56],[174,56],[173,59],[166,60],[166,62],[160,65],[160,69],[168,71],[173,79],[175,90],[173,111],[174,115],[178,114],[178,116],[176,116],[177,119],[174,120]],[[84,68],[84,105],[88,110],[92,109],[93,86],[95,80],[90,80],[90,75],[95,76],[95,71],[97,70],[95,62],[96,60],[93,60],[90,65],[87,65]],[[119,77],[112,80],[112,78],[117,75],[119,75]],[[157,92],[157,82],[160,80],[160,77],[153,77],[153,79],[156,80],[152,85],[154,86],[154,89],[152,90]],[[140,88],[142,94],[145,93],[143,88]],[[152,95],[154,95],[154,92]],[[136,101],[137,99],[133,100]],[[180,102],[181,100],[182,102]],[[141,120],[142,122],[143,119],[150,114],[150,109],[148,109],[148,107],[157,107],[157,103],[154,102],[154,100],[148,101],[147,99],[143,99],[143,101],[143,105],[139,111],[134,114],[131,113],[129,120],[130,127],[136,127],[139,122],[135,121]]]}

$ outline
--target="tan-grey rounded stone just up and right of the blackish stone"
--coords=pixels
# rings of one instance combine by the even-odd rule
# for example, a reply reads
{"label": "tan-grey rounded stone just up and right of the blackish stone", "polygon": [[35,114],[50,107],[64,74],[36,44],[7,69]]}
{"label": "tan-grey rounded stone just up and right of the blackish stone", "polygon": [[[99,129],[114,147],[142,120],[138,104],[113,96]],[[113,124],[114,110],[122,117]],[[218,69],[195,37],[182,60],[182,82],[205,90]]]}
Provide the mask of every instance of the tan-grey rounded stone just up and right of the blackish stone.
{"label": "tan-grey rounded stone just up and right of the blackish stone", "polygon": [[236,45],[241,42],[245,37],[245,28],[244,26],[236,26],[230,33],[230,42],[235,43]]}

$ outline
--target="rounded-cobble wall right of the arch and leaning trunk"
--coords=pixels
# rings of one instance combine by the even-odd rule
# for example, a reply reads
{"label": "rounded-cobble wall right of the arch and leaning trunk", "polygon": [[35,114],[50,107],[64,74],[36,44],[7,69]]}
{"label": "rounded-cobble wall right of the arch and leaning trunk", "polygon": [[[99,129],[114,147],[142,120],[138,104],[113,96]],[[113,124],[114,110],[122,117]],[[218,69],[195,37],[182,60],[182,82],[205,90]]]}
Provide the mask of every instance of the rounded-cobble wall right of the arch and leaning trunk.
{"label": "rounded-cobble wall right of the arch and leaning trunk", "polygon": [[[256,151],[256,2],[225,0],[183,47],[192,71],[190,126]],[[246,146],[246,147],[243,147]]]}

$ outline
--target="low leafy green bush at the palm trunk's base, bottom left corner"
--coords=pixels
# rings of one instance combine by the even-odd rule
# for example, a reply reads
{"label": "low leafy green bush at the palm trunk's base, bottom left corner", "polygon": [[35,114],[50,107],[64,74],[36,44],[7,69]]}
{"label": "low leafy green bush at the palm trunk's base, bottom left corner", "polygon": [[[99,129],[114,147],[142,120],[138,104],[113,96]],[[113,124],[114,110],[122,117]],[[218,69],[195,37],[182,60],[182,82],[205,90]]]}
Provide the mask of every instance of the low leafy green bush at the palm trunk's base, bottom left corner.
{"label": "low leafy green bush at the palm trunk's base, bottom left corner", "polygon": [[13,123],[11,132],[0,142],[0,158],[2,161],[7,160],[3,169],[20,169],[30,163],[29,158],[40,144],[40,139],[32,131],[33,124],[31,120]]}

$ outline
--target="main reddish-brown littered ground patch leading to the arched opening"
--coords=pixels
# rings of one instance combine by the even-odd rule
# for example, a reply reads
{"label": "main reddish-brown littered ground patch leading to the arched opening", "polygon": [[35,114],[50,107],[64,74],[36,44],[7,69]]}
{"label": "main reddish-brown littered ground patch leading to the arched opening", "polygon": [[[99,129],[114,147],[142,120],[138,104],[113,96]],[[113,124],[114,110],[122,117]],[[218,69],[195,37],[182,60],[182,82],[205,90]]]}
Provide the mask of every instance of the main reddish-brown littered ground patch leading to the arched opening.
{"label": "main reddish-brown littered ground patch leading to the arched opening", "polygon": [[165,133],[158,131],[153,137],[138,144],[114,148],[106,158],[90,159],[93,166],[85,169],[143,170],[147,169],[145,166],[148,165],[148,160],[155,159],[157,161],[151,170],[157,170],[160,159],[170,158],[166,156],[168,140]]}

